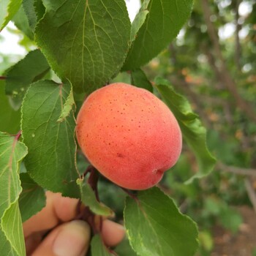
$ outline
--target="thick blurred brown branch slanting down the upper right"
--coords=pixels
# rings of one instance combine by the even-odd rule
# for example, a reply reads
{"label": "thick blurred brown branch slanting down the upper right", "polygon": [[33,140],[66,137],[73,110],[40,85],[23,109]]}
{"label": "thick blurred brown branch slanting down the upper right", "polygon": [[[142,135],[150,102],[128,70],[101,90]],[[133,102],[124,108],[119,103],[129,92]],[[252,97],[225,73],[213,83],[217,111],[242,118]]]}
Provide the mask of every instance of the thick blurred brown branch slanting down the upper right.
{"label": "thick blurred brown branch slanting down the upper right", "polygon": [[225,59],[223,58],[222,55],[222,50],[220,48],[217,31],[215,30],[214,25],[211,23],[210,20],[211,10],[209,8],[208,0],[201,0],[201,2],[203,8],[203,17],[206,20],[208,36],[211,39],[211,42],[214,46],[216,57],[220,63],[219,67],[217,67],[217,65],[215,64],[216,61],[214,61],[214,65],[216,66],[216,68],[214,68],[214,71],[216,72],[216,70],[218,70],[217,77],[221,75],[220,78],[222,79],[223,85],[227,87],[228,91],[230,91],[230,94],[234,97],[238,108],[240,108],[251,120],[256,122],[256,115],[253,111],[252,105],[250,105],[249,102],[246,102],[246,100],[239,95],[238,90],[236,88],[236,83],[231,77],[230,72],[227,69],[227,65],[225,64]]}

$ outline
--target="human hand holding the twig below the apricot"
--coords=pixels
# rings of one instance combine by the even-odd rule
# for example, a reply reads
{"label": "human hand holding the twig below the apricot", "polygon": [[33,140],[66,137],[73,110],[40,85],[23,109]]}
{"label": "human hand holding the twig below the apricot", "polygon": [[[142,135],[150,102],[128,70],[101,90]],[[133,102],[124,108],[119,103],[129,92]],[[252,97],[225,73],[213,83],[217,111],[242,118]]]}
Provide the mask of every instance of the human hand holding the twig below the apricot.
{"label": "human hand holding the twig below the apricot", "polygon": [[[91,230],[87,222],[72,220],[77,204],[77,199],[46,192],[45,208],[23,223],[26,255],[86,255]],[[102,222],[102,238],[108,246],[115,246],[124,238],[124,227],[106,219]]]}

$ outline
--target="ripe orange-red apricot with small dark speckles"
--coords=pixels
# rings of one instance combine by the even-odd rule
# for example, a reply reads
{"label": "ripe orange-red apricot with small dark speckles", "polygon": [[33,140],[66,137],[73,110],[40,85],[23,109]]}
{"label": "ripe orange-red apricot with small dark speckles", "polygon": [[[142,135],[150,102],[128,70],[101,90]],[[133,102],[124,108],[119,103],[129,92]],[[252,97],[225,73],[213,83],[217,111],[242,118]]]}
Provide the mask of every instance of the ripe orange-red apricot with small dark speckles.
{"label": "ripe orange-red apricot with small dark speckles", "polygon": [[181,153],[181,129],[151,92],[126,83],[94,91],[78,113],[83,154],[103,176],[127,189],[148,189]]}

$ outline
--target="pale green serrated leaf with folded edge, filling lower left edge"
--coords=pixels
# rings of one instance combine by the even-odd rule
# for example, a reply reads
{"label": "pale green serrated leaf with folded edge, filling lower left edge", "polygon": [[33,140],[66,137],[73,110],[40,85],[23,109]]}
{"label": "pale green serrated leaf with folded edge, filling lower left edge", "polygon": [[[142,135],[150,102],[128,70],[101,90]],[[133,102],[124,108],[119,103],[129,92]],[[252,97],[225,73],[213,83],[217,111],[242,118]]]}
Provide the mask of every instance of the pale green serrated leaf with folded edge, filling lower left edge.
{"label": "pale green serrated leaf with folded edge, filling lower left edge", "polygon": [[20,161],[27,148],[18,141],[19,135],[0,132],[0,247],[3,255],[26,255],[18,197],[21,192],[18,175]]}

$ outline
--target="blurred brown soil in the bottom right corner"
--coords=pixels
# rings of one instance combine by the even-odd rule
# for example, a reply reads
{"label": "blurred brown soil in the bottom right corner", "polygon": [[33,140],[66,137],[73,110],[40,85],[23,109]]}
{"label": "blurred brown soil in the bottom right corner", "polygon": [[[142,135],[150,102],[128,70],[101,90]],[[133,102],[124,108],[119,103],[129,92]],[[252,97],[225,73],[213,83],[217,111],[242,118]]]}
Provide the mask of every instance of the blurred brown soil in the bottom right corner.
{"label": "blurred brown soil in the bottom right corner", "polygon": [[214,249],[211,256],[255,256],[256,251],[256,214],[252,208],[242,206],[238,208],[244,223],[239,232],[233,235],[222,227],[214,227]]}

